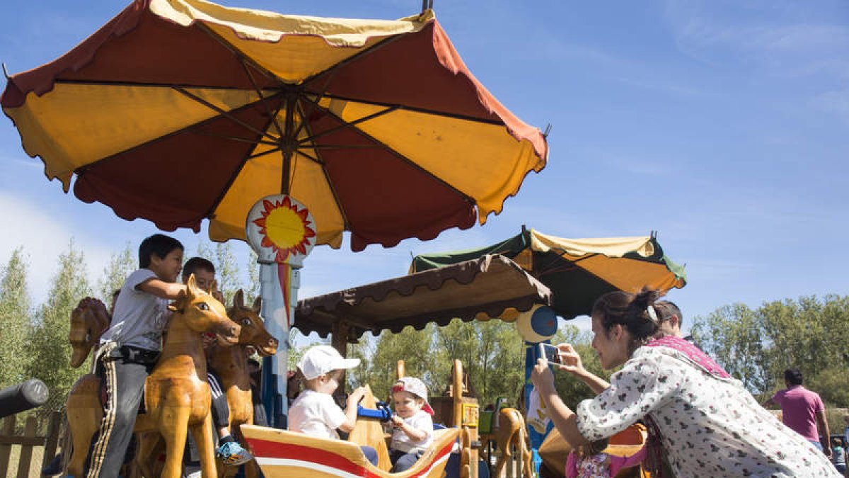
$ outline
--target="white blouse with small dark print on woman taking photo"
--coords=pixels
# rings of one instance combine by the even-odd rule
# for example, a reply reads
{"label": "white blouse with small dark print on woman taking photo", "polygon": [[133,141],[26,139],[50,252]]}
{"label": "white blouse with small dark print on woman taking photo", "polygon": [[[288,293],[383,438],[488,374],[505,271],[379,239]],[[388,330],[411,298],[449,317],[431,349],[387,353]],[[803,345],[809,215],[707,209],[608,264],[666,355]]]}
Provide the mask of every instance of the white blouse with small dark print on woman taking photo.
{"label": "white blouse with small dark print on woman taking photo", "polygon": [[576,414],[590,441],[648,415],[677,476],[841,476],[739,380],[711,374],[671,347],[638,348],[610,377],[610,388],[578,404]]}

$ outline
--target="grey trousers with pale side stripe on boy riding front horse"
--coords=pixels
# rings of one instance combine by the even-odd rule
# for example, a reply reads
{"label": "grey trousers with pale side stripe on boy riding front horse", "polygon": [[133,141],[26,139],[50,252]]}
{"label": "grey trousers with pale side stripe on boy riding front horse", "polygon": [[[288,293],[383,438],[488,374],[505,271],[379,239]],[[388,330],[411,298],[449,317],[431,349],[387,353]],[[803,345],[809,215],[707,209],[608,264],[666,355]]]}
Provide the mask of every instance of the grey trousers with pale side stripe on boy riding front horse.
{"label": "grey trousers with pale side stripe on boy riding front horse", "polygon": [[142,401],[144,381],[154,360],[127,356],[114,344],[104,345],[98,356],[98,375],[105,392],[104,418],[88,451],[87,478],[115,478],[124,462],[124,454],[136,424]]}

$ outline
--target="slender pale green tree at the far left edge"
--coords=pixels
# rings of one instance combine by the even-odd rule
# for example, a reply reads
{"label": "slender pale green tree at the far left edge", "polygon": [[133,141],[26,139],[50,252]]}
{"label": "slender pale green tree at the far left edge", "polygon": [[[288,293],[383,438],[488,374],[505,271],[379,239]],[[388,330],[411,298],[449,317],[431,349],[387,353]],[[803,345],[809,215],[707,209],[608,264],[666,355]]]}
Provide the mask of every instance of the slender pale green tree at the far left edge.
{"label": "slender pale green tree at the far left edge", "polygon": [[27,258],[23,248],[12,251],[0,270],[0,388],[18,384],[26,378],[29,355],[26,338],[31,335],[31,303],[26,289]]}

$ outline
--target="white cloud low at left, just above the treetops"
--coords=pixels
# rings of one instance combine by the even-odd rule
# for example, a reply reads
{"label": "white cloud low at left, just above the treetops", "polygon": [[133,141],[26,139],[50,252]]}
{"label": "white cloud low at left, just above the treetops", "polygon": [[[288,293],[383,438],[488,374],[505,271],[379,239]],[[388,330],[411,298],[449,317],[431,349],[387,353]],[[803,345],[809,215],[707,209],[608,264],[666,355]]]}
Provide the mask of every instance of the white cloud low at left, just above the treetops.
{"label": "white cloud low at left, just above the treetops", "polygon": [[0,193],[0,211],[8,225],[0,235],[0,265],[8,262],[15,248],[24,248],[30,266],[28,279],[33,304],[40,304],[47,298],[57,259],[68,248],[71,238],[76,248],[85,254],[91,285],[97,286],[93,281],[109,263],[113,248],[81,234],[79,225],[68,224],[53,211],[20,197]]}

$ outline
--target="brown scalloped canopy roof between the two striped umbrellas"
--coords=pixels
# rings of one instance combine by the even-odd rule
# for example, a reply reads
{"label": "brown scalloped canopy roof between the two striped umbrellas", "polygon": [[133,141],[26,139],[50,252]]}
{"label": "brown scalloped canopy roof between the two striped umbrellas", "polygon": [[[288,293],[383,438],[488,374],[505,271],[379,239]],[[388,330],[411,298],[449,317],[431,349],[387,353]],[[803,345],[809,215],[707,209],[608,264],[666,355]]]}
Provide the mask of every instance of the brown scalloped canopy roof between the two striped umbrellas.
{"label": "brown scalloped canopy roof between the two striped umbrellas", "polygon": [[542,282],[502,255],[486,255],[303,299],[295,310],[295,327],[326,337],[343,321],[359,338],[366,331],[421,330],[428,322],[444,326],[455,317],[469,322],[481,313],[498,317],[509,308],[525,311],[550,303],[551,291]]}

